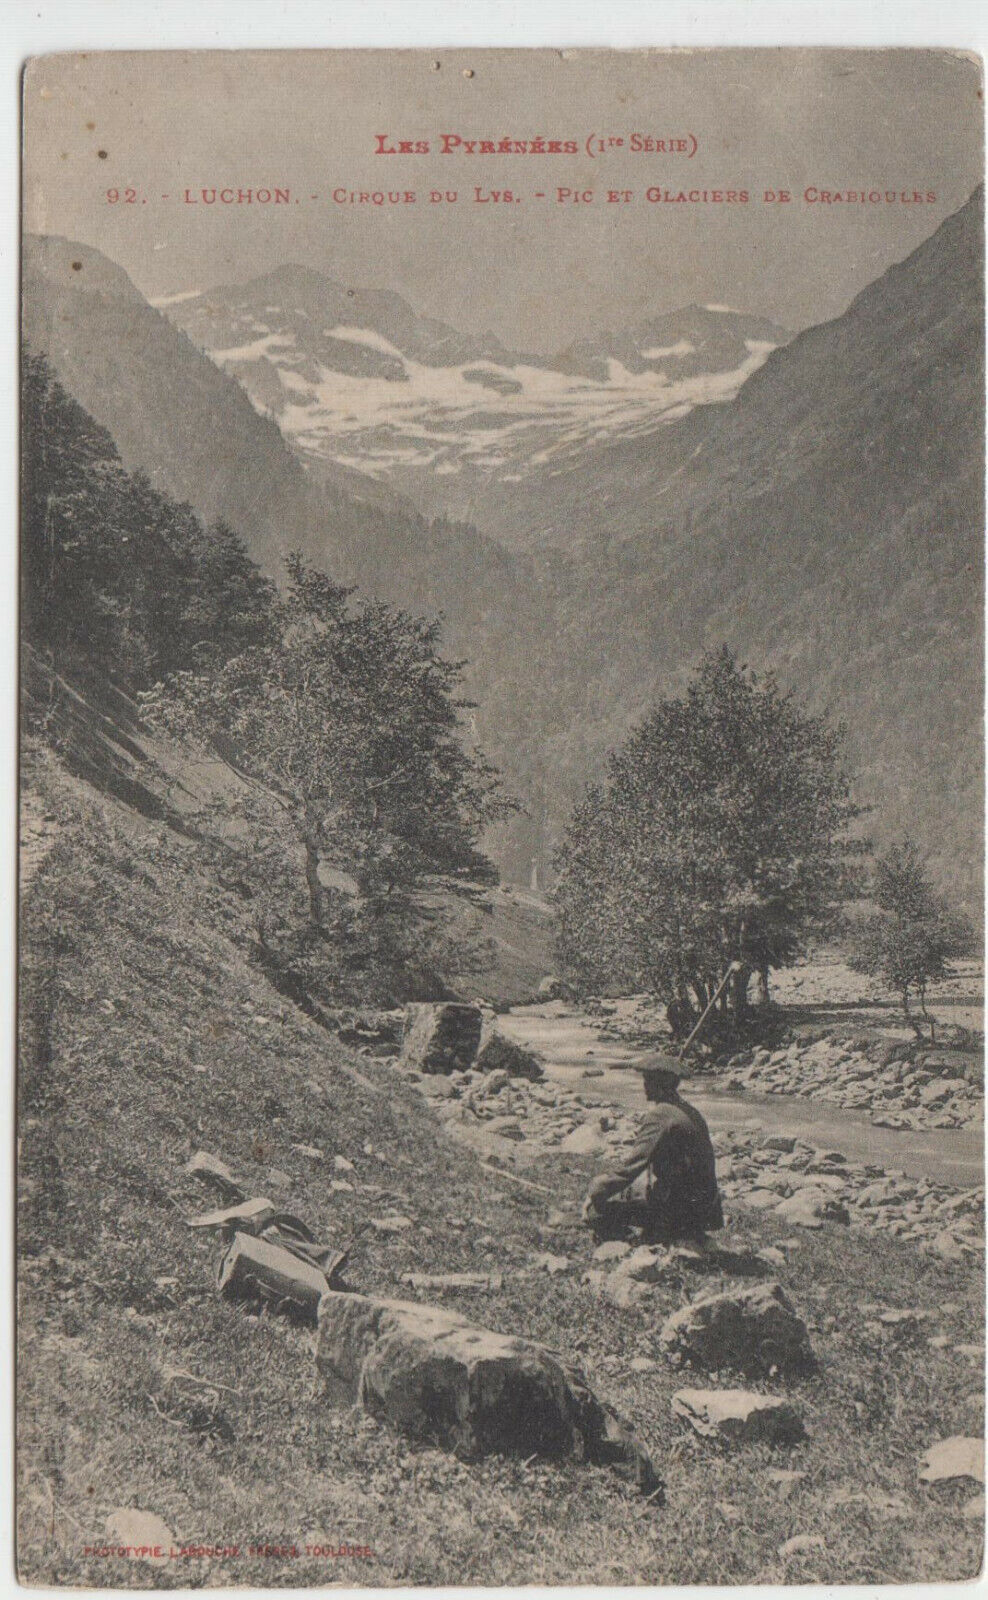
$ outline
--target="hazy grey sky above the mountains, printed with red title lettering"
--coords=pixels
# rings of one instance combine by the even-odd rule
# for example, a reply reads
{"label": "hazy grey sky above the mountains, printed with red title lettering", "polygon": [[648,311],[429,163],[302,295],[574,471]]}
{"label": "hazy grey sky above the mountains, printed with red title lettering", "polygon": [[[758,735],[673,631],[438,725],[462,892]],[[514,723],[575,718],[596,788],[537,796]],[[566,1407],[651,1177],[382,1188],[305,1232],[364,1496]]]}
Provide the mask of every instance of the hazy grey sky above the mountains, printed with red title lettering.
{"label": "hazy grey sky above the mountains, printed with red title lettering", "polygon": [[[102,250],[150,298],[297,261],[515,349],[691,301],[795,330],[838,315],[964,203],[982,176],[980,91],[969,58],[905,50],[50,56],[26,80],[26,226]],[[432,152],[376,155],[379,133]],[[580,154],[440,155],[441,133],[576,139]],[[633,133],[692,134],[697,154],[635,154]],[[592,158],[590,134],[625,144]],[[475,184],[521,200],[478,205]],[[806,205],[811,184],[937,198]],[[137,205],[106,202],[128,186]],[[293,203],[181,202],[203,186],[288,187]],[[556,186],[595,198],[556,205]],[[651,186],[751,202],[647,203]],[[337,187],[419,200],[341,206]],[[457,203],[428,205],[432,187]],[[766,187],[793,203],[763,205]],[[608,205],[609,189],[633,198]]]}

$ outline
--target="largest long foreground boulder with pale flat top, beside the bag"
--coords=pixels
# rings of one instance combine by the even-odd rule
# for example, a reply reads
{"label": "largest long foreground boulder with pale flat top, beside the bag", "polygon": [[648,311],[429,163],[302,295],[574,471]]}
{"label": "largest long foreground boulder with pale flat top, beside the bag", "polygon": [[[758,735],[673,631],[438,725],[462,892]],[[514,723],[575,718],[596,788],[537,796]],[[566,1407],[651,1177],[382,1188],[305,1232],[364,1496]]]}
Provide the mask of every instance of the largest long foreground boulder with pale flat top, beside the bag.
{"label": "largest long foreground boulder with pale flat top, beside the bag", "polygon": [[317,1368],[326,1395],[465,1456],[576,1456],[657,1486],[646,1451],[576,1365],[544,1346],[411,1301],[328,1291]]}

